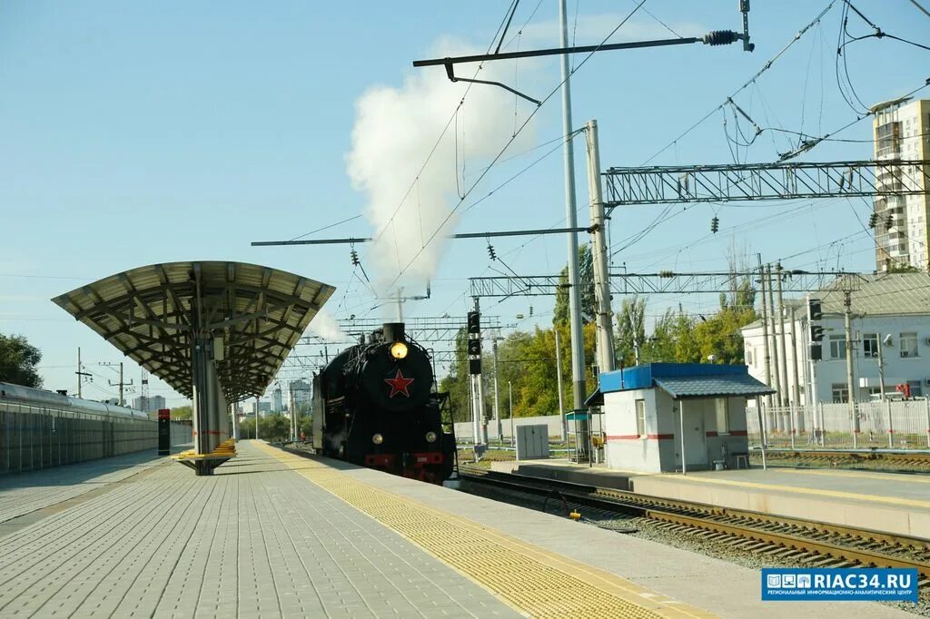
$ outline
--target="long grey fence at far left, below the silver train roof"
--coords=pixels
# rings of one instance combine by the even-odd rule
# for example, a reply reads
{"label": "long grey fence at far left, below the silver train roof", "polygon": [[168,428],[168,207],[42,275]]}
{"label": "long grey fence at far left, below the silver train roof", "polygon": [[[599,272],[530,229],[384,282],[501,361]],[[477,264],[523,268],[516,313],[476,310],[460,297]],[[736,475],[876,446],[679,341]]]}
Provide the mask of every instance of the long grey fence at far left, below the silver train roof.
{"label": "long grey fence at far left, below the silver train roof", "polygon": [[[0,403],[0,474],[154,450],[158,422]],[[174,432],[172,433],[174,434]],[[183,438],[184,432],[178,434]]]}

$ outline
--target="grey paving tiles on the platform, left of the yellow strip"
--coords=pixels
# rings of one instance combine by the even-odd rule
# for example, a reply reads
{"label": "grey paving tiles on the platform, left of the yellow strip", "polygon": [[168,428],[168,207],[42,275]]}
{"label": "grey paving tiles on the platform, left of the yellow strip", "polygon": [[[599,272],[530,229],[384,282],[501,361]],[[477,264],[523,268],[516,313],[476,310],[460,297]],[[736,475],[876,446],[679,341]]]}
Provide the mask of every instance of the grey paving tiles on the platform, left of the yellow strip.
{"label": "grey paving tiles on the platform, left of the yellow strip", "polygon": [[[105,492],[0,537],[0,616],[520,616],[259,448],[233,462],[30,473],[33,508]],[[29,492],[0,482],[0,519]]]}

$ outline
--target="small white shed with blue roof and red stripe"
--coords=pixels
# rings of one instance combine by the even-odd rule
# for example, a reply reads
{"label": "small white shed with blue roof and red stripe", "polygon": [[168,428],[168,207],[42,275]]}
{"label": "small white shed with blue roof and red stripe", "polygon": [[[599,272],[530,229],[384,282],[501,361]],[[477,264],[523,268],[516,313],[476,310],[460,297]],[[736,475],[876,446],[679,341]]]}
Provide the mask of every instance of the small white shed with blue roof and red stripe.
{"label": "small white shed with blue roof and red stripe", "polygon": [[606,372],[598,390],[608,468],[644,472],[736,468],[749,452],[747,398],[775,392],[746,365],[711,363]]}

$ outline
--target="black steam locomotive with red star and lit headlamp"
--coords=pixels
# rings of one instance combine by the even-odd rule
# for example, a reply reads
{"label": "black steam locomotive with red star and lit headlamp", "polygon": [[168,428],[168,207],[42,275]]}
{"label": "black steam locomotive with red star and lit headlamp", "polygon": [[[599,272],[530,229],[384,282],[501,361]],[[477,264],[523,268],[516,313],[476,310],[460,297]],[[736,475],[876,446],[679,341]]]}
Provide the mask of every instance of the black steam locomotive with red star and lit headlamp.
{"label": "black steam locomotive with red star and lit headlamp", "polygon": [[454,468],[447,394],[433,389],[430,355],[387,323],[313,378],[313,448],[396,475],[440,483]]}

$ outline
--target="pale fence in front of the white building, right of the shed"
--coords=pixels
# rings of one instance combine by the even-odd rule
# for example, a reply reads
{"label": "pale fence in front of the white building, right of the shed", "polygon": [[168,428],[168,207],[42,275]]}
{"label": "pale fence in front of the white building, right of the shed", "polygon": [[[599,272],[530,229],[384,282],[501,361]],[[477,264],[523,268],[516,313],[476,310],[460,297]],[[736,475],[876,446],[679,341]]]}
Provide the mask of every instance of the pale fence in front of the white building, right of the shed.
{"label": "pale fence in front of the white building, right of the shed", "polygon": [[930,448],[930,399],[747,408],[750,441],[769,447]]}

